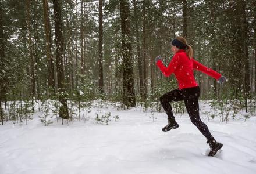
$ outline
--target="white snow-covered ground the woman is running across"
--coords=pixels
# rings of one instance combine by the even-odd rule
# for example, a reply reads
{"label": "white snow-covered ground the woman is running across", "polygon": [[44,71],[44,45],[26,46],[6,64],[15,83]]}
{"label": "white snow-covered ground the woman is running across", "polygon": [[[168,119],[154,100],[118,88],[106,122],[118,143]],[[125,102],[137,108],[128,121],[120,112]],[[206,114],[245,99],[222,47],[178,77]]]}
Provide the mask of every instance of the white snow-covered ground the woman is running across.
{"label": "white snow-covered ground the woman is running across", "polygon": [[[201,104],[202,105],[202,104]],[[140,107],[111,112],[109,125],[90,120],[44,126],[38,118],[27,125],[0,126],[0,173],[256,173],[256,117],[219,122],[201,114],[221,153],[208,157],[206,139],[187,114],[176,114],[180,127],[162,132],[165,113]],[[201,111],[202,112],[202,111]],[[113,116],[119,120],[114,121]]]}

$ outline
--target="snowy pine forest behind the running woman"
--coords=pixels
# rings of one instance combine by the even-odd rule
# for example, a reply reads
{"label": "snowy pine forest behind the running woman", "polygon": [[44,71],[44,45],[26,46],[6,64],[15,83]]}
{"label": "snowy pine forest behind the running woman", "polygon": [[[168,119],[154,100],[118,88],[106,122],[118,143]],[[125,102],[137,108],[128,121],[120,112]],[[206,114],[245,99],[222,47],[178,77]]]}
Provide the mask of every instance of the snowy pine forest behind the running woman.
{"label": "snowy pine forest behind the running woman", "polygon": [[[64,119],[72,118],[70,101],[77,107],[97,99],[159,106],[159,96],[177,84],[154,59],[162,55],[167,66],[170,41],[179,35],[195,60],[227,77],[222,86],[195,72],[200,99],[236,100],[250,112],[256,103],[255,31],[253,0],[1,0],[1,122],[33,113],[38,101],[49,99],[59,101]],[[4,112],[8,106],[16,116]]]}

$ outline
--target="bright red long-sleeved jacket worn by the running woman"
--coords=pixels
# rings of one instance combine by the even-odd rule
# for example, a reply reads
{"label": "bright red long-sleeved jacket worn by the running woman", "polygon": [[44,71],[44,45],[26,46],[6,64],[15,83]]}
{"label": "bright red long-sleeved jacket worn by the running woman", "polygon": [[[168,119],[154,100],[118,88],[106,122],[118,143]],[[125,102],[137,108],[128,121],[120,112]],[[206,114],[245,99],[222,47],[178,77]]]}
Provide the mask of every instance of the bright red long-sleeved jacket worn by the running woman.
{"label": "bright red long-sleeved jacket worn by the running woman", "polygon": [[198,61],[195,61],[193,58],[189,59],[183,49],[180,49],[173,56],[168,67],[165,67],[161,60],[157,61],[157,66],[166,77],[169,77],[172,73],[175,74],[175,77],[179,83],[179,89],[198,86],[194,77],[194,69],[199,70],[217,80],[221,77],[221,74],[217,73],[211,68],[205,67]]}

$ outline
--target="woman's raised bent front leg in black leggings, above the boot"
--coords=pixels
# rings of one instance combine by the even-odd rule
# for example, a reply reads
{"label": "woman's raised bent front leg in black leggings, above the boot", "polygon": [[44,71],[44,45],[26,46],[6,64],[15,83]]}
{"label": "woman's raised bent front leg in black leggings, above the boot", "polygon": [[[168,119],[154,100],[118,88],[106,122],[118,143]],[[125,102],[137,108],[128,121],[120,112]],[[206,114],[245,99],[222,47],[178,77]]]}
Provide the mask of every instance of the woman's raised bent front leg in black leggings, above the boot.
{"label": "woman's raised bent front leg in black leggings, above the boot", "polygon": [[182,100],[183,100],[182,91],[179,89],[172,90],[160,97],[160,103],[162,104],[163,109],[168,115],[168,119],[175,120],[175,117],[173,116],[173,113],[172,113],[172,106],[170,105],[169,102],[182,101]]}

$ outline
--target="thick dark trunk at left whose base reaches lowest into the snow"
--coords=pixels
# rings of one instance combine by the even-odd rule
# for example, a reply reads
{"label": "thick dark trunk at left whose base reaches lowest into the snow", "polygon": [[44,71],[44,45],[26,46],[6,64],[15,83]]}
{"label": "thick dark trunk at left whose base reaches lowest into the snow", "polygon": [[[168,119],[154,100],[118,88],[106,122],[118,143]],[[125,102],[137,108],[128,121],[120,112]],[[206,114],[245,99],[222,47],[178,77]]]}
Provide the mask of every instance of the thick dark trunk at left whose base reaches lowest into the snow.
{"label": "thick dark trunk at left whose base reaches lowest into the snow", "polygon": [[65,90],[65,79],[63,71],[63,36],[62,36],[62,20],[61,20],[61,3],[60,0],[53,0],[54,2],[54,26],[55,26],[55,42],[56,42],[56,66],[58,78],[58,92],[59,102],[59,117],[63,119],[69,118],[69,111],[67,108],[67,93]]}

